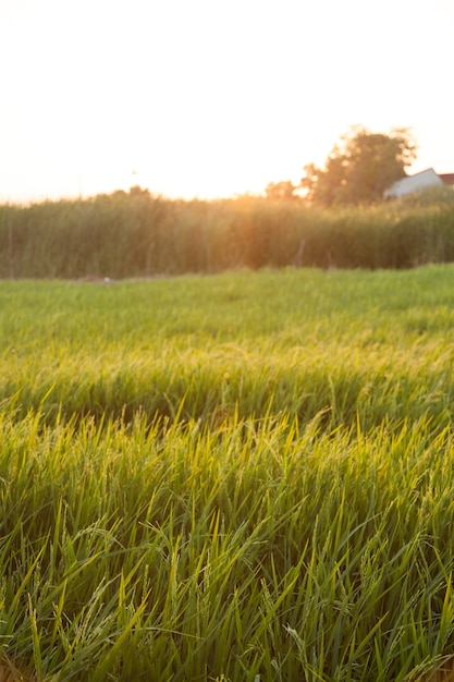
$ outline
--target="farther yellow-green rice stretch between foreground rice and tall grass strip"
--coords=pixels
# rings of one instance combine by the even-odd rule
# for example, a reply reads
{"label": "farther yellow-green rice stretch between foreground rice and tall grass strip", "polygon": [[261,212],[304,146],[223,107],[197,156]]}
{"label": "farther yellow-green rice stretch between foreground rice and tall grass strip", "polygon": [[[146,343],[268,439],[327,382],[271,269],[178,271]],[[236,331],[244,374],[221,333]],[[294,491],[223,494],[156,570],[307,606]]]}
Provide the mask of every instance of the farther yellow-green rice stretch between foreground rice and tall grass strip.
{"label": "farther yellow-green rice stretch between foreground rice and tall grass strip", "polygon": [[[0,398],[20,416],[219,425],[451,423],[452,270],[289,269],[114,284],[3,283]],[[39,310],[39,315],[36,312]]]}

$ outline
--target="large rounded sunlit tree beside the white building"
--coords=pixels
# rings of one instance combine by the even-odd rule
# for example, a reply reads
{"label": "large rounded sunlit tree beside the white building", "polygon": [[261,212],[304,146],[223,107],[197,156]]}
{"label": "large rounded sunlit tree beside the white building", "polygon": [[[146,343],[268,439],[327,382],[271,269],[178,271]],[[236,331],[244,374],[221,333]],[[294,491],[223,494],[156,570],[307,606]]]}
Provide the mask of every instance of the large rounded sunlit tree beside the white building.
{"label": "large rounded sunlit tree beside the white building", "polygon": [[406,175],[416,148],[408,129],[386,135],[354,126],[334,145],[324,169],[305,166],[302,187],[308,200],[324,206],[380,200],[386,187]]}

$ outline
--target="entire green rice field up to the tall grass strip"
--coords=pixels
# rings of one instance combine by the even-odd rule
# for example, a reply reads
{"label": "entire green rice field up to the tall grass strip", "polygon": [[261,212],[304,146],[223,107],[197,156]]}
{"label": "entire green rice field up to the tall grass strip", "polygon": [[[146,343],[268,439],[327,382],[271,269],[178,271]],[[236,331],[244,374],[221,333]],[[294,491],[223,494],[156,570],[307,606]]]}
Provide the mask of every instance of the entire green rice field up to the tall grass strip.
{"label": "entire green rice field up to the tall grass strip", "polygon": [[454,654],[454,267],[0,282],[0,645],[38,680]]}

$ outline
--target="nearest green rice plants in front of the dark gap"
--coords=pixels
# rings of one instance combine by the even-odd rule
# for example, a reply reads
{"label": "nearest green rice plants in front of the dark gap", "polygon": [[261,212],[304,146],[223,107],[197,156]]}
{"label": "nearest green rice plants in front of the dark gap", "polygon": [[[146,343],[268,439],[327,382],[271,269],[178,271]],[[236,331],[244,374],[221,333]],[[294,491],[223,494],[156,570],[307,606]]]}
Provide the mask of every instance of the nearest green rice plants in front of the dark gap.
{"label": "nearest green rice plants in front of the dark gap", "polygon": [[2,418],[2,479],[35,464],[0,636],[42,677],[404,680],[451,650],[451,429]]}

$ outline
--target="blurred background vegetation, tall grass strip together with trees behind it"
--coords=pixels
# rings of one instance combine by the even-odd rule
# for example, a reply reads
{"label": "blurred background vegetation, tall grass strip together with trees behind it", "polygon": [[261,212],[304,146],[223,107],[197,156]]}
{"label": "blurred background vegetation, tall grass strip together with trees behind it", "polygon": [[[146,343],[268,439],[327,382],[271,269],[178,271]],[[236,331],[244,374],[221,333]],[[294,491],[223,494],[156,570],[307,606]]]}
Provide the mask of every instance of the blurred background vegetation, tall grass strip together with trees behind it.
{"label": "blurred background vegetation, tall grass strip together with trees behind it", "polygon": [[140,186],[0,206],[0,278],[137,278],[241,268],[410,268],[454,259],[454,191],[384,202],[416,157],[407,129],[354,126],[324,168],[263,196],[183,200]]}

